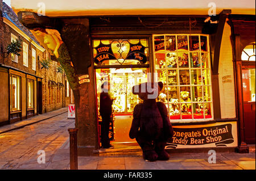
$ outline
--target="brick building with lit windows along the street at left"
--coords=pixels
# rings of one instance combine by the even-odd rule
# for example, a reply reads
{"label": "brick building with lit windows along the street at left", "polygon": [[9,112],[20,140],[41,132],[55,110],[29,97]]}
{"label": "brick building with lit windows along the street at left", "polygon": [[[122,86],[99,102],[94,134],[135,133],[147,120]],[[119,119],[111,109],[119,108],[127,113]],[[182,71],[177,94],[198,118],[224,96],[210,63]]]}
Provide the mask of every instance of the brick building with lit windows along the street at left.
{"label": "brick building with lit windows along the street at left", "polygon": [[[20,56],[3,56],[12,40],[22,39]],[[0,126],[27,119],[61,107],[71,101],[71,90],[57,62],[49,69],[40,61],[49,59],[48,50],[20,22],[15,12],[0,1]]]}

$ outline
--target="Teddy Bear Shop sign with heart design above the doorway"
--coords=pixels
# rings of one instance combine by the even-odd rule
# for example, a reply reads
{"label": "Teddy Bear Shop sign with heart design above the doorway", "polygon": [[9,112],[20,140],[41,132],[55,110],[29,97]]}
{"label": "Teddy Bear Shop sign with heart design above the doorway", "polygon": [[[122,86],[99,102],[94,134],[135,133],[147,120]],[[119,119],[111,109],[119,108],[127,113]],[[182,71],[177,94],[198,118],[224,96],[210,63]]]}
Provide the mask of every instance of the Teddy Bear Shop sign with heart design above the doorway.
{"label": "Teddy Bear Shop sign with heart design above the doorway", "polygon": [[[126,48],[123,48],[125,45]],[[132,44],[129,41],[113,41],[112,44],[100,43],[98,47],[94,48],[96,50],[96,56],[94,57],[94,62],[96,64],[102,64],[105,60],[138,60],[141,64],[147,62],[147,56],[145,54],[145,48],[141,41],[137,44]],[[121,62],[121,64],[123,63]]]}

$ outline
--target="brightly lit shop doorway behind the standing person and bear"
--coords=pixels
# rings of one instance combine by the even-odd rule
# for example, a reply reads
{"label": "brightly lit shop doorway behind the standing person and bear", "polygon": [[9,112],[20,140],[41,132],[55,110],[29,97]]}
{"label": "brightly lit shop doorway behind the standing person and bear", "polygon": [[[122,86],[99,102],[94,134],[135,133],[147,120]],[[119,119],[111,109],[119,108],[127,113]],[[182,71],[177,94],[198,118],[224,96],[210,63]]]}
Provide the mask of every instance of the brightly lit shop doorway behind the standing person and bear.
{"label": "brightly lit shop doorway behind the standing person and bear", "polygon": [[137,146],[136,140],[129,138],[129,131],[133,120],[133,109],[142,100],[139,99],[138,95],[132,93],[132,87],[147,82],[148,68],[95,69],[95,72],[99,125],[101,125],[99,112],[101,85],[105,81],[109,81],[109,95],[115,99],[112,105],[113,124],[110,124],[110,142],[114,148]]}

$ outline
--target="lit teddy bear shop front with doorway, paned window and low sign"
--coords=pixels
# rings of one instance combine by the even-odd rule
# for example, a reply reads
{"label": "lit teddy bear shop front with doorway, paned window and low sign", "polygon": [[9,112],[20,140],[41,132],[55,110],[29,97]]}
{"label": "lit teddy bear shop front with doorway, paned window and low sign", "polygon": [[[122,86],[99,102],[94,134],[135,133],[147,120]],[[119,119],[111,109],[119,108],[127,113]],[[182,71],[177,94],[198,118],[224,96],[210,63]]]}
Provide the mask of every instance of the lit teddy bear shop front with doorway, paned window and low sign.
{"label": "lit teddy bear shop front with doorway, paned window and low sign", "polygon": [[237,121],[214,120],[209,35],[110,37],[93,39],[92,47],[98,134],[100,137],[100,94],[102,84],[108,82],[113,100],[109,138],[114,148],[138,146],[129,137],[129,130],[134,107],[143,100],[133,94],[132,88],[152,80],[163,83],[156,101],[164,103],[174,128],[167,150],[236,148]]}

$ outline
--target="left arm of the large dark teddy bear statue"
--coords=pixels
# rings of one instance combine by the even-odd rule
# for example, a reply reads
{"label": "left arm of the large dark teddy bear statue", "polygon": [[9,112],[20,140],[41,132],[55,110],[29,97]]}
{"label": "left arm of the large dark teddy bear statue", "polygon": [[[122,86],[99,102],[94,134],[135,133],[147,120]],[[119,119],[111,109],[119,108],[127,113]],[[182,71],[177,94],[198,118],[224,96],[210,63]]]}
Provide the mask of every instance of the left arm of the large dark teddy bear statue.
{"label": "left arm of the large dark teddy bear statue", "polygon": [[131,139],[135,138],[139,131],[139,121],[141,119],[141,108],[142,108],[142,103],[137,104],[133,110],[133,122],[131,123],[131,129],[129,132],[129,137]]}

